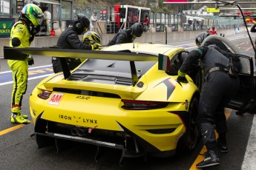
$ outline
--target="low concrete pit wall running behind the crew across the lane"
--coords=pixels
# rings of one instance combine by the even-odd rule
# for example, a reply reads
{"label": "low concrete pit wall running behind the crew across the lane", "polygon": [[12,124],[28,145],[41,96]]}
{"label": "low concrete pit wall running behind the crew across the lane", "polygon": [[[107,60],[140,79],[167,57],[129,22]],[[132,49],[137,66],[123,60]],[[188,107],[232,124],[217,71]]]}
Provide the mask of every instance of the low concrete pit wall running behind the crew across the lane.
{"label": "low concrete pit wall running behind the crew across the lane", "polygon": [[[246,31],[246,27],[240,27],[240,32]],[[183,32],[170,32],[167,33],[167,41],[181,41],[194,39],[202,30],[197,31],[183,31]],[[217,33],[232,35],[234,29],[230,30],[217,30]],[[108,42],[114,37],[114,34],[102,35],[102,46],[108,44]],[[30,47],[52,47],[56,45],[59,36],[36,36]],[[79,35],[82,40],[82,35]],[[165,43],[165,33],[143,33],[140,38],[136,38],[134,42],[141,43]],[[0,57],[4,56],[3,47],[9,46],[9,38],[0,38]]]}

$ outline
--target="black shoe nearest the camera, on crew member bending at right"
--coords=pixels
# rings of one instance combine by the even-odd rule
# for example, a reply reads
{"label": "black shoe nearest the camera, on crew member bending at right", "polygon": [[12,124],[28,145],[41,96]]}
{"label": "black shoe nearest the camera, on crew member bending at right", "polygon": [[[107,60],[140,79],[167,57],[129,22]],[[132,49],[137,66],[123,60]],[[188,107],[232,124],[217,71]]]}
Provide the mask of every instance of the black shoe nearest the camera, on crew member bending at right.
{"label": "black shoe nearest the camera, on crew member bending at right", "polygon": [[196,167],[198,169],[203,169],[203,168],[206,168],[206,167],[209,167],[209,166],[218,166],[218,165],[220,165],[219,157],[212,150],[208,150],[207,152],[205,152],[203,154],[203,157],[205,157],[205,159],[202,162],[197,163]]}

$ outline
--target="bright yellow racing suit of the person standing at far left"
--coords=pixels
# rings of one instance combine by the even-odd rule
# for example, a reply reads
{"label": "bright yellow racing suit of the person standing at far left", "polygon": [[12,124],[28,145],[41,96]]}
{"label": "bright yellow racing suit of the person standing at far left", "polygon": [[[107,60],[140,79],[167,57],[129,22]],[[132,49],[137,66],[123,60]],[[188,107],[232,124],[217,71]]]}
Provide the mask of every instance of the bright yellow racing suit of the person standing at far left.
{"label": "bright yellow racing suit of the person standing at far left", "polygon": [[[16,22],[10,32],[10,47],[13,47],[12,39],[19,38],[21,44],[18,47],[30,47],[30,32],[22,21]],[[8,60],[7,64],[13,72],[13,92],[11,98],[11,111],[19,114],[22,108],[22,97],[27,90],[27,61]]]}

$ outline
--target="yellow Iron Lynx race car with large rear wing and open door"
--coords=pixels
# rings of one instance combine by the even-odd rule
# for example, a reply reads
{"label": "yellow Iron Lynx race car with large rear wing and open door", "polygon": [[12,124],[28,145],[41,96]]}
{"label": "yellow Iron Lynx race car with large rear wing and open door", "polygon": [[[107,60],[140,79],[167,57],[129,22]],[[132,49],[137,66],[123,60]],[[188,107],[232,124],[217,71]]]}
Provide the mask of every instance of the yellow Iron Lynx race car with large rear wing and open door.
{"label": "yellow Iron Lynx race car with large rear wing and open door", "polygon": [[[186,78],[177,71],[188,51],[165,44],[119,44],[101,51],[4,47],[4,58],[27,54],[59,56],[63,72],[50,75],[30,95],[30,114],[39,148],[74,140],[122,149],[122,157],[168,157],[180,144],[196,146],[195,125],[203,69]],[[70,72],[65,58],[88,58]],[[232,109],[251,112],[255,100],[252,58],[243,62],[240,91]]]}

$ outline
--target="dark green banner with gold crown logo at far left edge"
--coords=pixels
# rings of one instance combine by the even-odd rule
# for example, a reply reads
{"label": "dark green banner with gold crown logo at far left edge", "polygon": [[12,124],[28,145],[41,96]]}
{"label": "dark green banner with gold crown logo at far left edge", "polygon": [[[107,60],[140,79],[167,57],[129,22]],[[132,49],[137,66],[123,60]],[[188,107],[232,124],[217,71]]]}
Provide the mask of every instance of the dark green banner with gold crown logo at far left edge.
{"label": "dark green banner with gold crown logo at far left edge", "polygon": [[10,30],[15,23],[15,18],[0,18],[0,38],[10,38]]}

